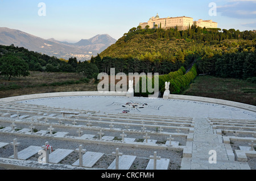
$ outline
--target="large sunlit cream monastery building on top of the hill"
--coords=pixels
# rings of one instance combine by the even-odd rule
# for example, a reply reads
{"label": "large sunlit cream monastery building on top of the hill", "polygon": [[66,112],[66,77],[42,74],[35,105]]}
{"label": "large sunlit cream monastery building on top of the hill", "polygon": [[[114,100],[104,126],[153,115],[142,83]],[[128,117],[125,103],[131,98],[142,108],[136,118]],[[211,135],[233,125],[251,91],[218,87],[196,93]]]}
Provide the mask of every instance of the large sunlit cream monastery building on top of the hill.
{"label": "large sunlit cream monastery building on top of the hill", "polygon": [[155,17],[151,17],[146,23],[139,23],[139,26],[141,26],[142,29],[148,26],[148,28],[178,28],[178,30],[188,30],[193,24],[202,28],[218,27],[218,23],[212,20],[199,19],[198,21],[193,21],[193,18],[187,16],[160,18],[158,14]]}

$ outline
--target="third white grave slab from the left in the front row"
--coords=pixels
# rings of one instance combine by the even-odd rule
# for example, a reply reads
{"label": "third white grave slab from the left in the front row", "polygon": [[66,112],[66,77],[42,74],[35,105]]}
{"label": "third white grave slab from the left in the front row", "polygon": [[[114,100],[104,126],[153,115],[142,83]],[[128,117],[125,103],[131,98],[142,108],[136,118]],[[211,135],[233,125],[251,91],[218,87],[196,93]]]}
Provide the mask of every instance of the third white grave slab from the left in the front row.
{"label": "third white grave slab from the left in the front row", "polygon": [[[83,167],[93,167],[95,163],[104,155],[104,153],[97,153],[88,151],[82,156],[82,166]],[[79,166],[79,159],[72,166]]]}

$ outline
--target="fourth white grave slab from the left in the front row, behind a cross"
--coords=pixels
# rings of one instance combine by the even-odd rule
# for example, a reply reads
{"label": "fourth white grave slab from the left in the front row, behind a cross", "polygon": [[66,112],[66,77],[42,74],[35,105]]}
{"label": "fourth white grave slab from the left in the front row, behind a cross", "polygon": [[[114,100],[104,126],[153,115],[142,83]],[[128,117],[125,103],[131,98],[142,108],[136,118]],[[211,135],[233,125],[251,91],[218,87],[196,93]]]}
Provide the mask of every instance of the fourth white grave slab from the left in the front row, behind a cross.
{"label": "fourth white grave slab from the left in the front row, behind a cross", "polygon": [[[136,156],[122,155],[119,157],[119,170],[129,170]],[[115,170],[115,159],[108,167],[108,170]]]}

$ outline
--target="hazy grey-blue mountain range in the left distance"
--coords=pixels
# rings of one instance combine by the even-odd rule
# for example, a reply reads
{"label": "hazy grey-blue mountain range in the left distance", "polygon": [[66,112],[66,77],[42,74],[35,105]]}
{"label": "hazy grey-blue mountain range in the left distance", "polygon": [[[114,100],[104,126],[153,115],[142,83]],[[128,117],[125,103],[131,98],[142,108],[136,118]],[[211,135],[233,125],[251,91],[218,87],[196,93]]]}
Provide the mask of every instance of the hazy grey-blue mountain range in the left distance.
{"label": "hazy grey-blue mountain range in the left distance", "polygon": [[89,60],[103,50],[114,44],[117,40],[104,34],[96,35],[90,39],[81,39],[77,43],[68,43],[55,39],[43,39],[29,33],[0,27],[0,45],[11,45],[24,47],[34,52],[68,59],[76,57],[77,60]]}

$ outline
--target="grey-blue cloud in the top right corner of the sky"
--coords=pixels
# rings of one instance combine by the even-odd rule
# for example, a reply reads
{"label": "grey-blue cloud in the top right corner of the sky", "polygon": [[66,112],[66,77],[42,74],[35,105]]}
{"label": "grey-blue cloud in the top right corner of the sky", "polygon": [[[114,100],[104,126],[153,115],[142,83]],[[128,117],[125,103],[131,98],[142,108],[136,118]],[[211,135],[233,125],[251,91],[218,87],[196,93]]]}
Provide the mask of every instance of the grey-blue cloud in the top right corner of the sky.
{"label": "grey-blue cloud in the top right corner of the sky", "polygon": [[230,0],[226,5],[218,6],[222,16],[238,19],[256,18],[256,0]]}

